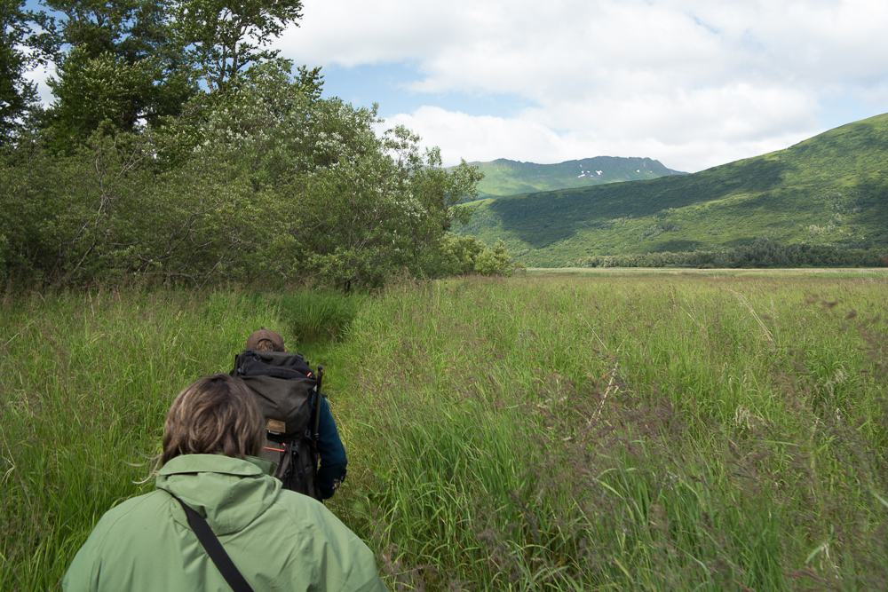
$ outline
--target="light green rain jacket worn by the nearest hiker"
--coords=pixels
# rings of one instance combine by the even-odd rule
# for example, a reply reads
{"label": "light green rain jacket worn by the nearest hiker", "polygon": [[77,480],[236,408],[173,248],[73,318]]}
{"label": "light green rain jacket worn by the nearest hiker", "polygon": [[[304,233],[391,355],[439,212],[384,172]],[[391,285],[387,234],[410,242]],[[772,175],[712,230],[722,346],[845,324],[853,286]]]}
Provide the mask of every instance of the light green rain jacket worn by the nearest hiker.
{"label": "light green rain jacket worn by the nearest hiker", "polygon": [[[186,454],[157,491],[110,509],[65,574],[67,592],[230,590],[169,493],[194,508],[256,592],[384,592],[376,558],[320,501],[281,490],[260,459]],[[269,463],[270,464],[270,463]]]}

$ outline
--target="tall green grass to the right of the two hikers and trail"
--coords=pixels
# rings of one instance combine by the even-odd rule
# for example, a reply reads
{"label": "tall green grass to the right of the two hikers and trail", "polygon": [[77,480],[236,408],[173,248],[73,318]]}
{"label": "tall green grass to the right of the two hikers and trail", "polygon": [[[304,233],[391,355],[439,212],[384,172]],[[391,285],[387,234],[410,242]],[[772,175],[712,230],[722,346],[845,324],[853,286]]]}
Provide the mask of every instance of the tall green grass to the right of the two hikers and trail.
{"label": "tall green grass to the right of the two hikers and trail", "polygon": [[336,501],[396,589],[875,589],[884,280],[392,288]]}

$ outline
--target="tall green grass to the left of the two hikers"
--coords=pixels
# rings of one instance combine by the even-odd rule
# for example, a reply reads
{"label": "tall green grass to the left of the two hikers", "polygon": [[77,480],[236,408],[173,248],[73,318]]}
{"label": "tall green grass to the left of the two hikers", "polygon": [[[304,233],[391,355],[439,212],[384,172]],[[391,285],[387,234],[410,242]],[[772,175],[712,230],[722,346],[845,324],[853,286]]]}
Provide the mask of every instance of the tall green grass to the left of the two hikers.
{"label": "tall green grass to the left of the two hikers", "polygon": [[[186,384],[228,372],[265,325],[293,350],[341,332],[323,294],[92,291],[4,297],[0,311],[0,589],[58,588],[92,525],[143,482]],[[298,321],[294,320],[298,318]],[[329,335],[333,336],[333,335]],[[322,349],[322,348],[321,348]],[[335,377],[329,381],[335,389]],[[142,482],[142,483],[140,483]]]}

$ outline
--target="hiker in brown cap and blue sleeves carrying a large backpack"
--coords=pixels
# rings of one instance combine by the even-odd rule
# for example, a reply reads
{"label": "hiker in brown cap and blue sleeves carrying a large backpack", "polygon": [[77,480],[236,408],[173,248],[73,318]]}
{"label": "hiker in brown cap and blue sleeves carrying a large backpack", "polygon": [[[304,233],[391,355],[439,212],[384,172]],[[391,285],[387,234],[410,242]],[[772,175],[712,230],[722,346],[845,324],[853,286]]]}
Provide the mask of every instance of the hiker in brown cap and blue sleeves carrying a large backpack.
{"label": "hiker in brown cap and blue sleeves carrying a large backpack", "polygon": [[347,459],[321,393],[323,368],[314,372],[302,354],[287,351],[281,335],[262,327],[247,338],[230,374],[250,388],[263,412],[262,457],[277,464],[274,477],[285,489],[318,500],[336,493]]}

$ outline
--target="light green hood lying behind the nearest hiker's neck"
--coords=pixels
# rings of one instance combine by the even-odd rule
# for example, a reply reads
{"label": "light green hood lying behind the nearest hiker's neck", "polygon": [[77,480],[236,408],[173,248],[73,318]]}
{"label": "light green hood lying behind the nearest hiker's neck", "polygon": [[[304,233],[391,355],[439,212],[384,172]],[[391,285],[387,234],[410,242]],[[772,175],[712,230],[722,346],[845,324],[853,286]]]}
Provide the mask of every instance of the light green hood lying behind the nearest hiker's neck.
{"label": "light green hood lying behind the nearest hiker's neck", "polygon": [[265,512],[281,490],[281,482],[267,474],[272,463],[248,458],[183,454],[163,465],[155,485],[205,517],[218,536],[237,533]]}

